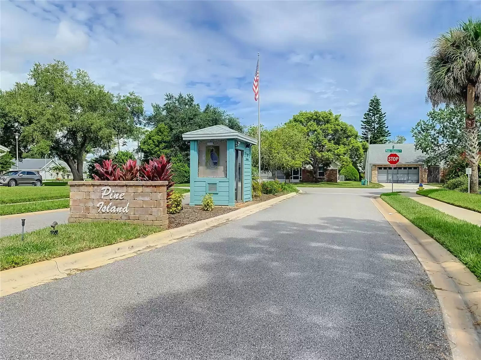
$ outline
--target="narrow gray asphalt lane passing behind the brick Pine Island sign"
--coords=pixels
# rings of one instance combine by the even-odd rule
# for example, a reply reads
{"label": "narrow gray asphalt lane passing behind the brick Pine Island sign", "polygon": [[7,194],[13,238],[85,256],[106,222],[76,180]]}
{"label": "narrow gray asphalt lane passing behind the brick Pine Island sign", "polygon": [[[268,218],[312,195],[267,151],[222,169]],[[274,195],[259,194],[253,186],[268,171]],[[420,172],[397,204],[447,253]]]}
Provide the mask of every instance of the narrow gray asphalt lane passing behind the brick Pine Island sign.
{"label": "narrow gray asphalt lane passing behind the brick Pine Island sign", "polygon": [[[183,204],[189,204],[190,194],[186,193]],[[22,233],[22,219],[25,219],[25,232],[43,229],[56,221],[59,224],[67,223],[68,209],[43,213],[27,213],[0,217],[0,236]]]}

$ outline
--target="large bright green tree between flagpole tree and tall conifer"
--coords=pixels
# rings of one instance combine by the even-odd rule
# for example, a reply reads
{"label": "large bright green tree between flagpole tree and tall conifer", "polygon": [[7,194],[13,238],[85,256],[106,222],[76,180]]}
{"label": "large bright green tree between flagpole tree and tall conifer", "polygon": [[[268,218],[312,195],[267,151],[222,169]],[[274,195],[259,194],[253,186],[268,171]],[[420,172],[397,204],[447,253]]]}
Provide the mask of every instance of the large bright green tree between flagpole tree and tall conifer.
{"label": "large bright green tree between flagpole tree and tall conifer", "polygon": [[[309,142],[309,162],[313,167],[315,181],[320,166],[328,169],[332,161],[342,166],[359,166],[367,143],[359,142],[359,134],[353,125],[341,121],[341,115],[329,111],[299,112],[290,122],[306,128]],[[262,145],[261,145],[262,149]]]}

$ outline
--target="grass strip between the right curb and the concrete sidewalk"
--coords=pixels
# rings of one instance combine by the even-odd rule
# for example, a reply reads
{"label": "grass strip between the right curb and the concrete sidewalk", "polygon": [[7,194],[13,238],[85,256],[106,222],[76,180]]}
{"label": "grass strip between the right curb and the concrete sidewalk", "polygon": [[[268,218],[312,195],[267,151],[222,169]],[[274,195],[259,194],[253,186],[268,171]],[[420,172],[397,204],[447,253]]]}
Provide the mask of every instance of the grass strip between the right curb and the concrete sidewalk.
{"label": "grass strip between the right curb and the concrete sidewalk", "polygon": [[399,193],[385,193],[381,195],[381,199],[448,249],[481,280],[481,229],[479,226],[458,220]]}

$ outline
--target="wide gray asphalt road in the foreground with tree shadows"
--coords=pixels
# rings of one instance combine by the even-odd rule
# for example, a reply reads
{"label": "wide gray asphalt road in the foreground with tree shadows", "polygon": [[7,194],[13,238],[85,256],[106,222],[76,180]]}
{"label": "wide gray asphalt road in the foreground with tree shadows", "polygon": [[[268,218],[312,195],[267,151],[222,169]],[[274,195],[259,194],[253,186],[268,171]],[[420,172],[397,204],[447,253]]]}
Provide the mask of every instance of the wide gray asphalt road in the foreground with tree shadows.
{"label": "wide gray asphalt road in the foreground with tree shadows", "polygon": [[0,359],[450,359],[428,277],[370,191],[305,191],[1,298]]}

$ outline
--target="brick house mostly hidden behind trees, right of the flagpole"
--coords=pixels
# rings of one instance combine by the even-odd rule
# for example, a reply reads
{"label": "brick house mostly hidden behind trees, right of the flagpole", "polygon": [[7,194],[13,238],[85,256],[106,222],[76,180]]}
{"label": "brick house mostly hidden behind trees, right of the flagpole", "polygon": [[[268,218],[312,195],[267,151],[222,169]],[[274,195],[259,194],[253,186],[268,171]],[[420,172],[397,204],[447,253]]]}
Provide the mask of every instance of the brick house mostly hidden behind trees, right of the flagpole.
{"label": "brick house mostly hidden behind trees, right of the flagpole", "polygon": [[[317,177],[321,179],[321,181],[327,181],[329,183],[337,183],[339,181],[339,169],[341,168],[341,164],[337,161],[333,161],[329,166],[329,169],[324,169],[323,167],[319,167],[317,169]],[[291,175],[288,179],[288,182],[291,183],[300,183],[300,182],[313,182],[314,181],[314,170],[311,165],[304,165],[301,168],[291,169]],[[284,171],[278,170],[277,171],[277,179],[279,182],[283,183],[286,181],[286,174]],[[272,173],[261,171],[261,180],[273,180],[274,176]]]}

